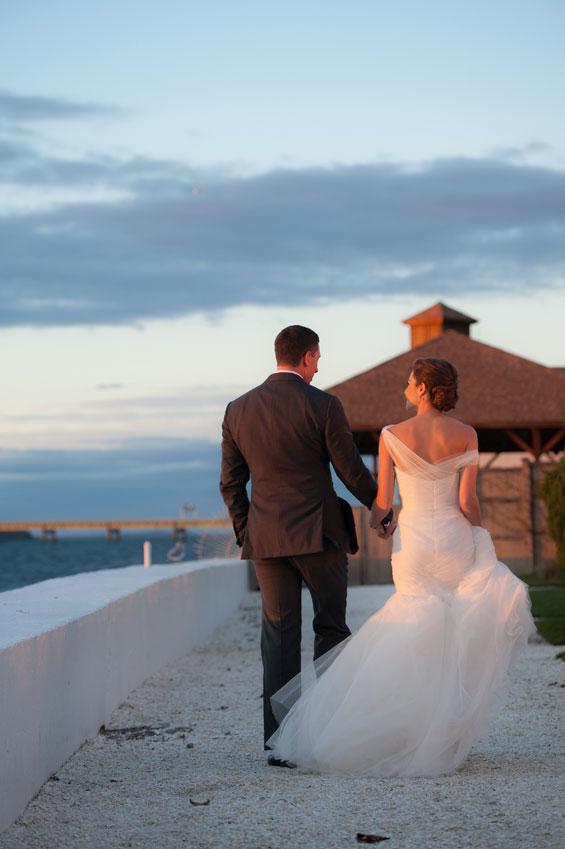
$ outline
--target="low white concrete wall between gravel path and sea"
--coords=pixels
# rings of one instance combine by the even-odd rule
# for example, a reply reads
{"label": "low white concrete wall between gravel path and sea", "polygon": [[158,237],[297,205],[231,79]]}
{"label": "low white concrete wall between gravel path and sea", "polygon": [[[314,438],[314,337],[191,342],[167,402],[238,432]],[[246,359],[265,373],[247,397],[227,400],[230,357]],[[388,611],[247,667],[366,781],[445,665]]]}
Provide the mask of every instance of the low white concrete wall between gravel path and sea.
{"label": "low white concrete wall between gravel path and sea", "polygon": [[246,562],[208,560],[0,593],[0,829],[134,687],[204,641],[246,592]]}

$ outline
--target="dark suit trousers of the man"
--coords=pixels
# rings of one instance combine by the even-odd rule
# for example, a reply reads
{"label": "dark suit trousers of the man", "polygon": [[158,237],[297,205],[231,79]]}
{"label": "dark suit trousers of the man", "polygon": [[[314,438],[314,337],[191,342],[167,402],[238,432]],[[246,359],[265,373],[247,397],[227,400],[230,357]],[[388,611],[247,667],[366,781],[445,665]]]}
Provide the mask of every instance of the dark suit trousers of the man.
{"label": "dark suit trousers of the man", "polygon": [[314,659],[351,634],[345,622],[347,554],[329,541],[325,544],[325,550],[316,554],[253,561],[262,599],[265,743],[278,728],[270,697],[300,672],[303,581],[314,607]]}

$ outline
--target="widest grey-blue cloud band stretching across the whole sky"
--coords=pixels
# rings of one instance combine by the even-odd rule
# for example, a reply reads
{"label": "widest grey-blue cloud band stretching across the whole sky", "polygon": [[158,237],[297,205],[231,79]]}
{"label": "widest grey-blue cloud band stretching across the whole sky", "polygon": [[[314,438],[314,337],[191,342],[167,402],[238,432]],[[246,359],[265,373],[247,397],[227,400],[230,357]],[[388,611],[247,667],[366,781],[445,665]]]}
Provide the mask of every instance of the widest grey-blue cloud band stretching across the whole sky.
{"label": "widest grey-blue cloud band stretching across the whole sky", "polygon": [[0,324],[561,286],[565,173],[514,160],[240,176],[144,157],[50,157],[5,140],[4,185],[75,196],[0,218]]}

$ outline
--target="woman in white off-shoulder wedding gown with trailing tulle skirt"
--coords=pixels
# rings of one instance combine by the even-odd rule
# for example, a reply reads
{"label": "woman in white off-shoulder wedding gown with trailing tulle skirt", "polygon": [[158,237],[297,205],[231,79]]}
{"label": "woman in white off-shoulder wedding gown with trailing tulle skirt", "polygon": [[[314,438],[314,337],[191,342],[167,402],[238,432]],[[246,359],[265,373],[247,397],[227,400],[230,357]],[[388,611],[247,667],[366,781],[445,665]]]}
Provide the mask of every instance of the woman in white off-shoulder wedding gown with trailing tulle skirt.
{"label": "woman in white off-shoulder wedding gown with trailing tulle skirt", "polygon": [[379,527],[389,511],[396,476],[396,592],[271,697],[281,724],[267,745],[288,765],[452,772],[502,706],[509,669],[535,631],[526,585],[497,561],[481,525],[477,434],[445,415],[457,403],[457,370],[417,359],[404,394],[417,413],[383,428],[371,521]]}

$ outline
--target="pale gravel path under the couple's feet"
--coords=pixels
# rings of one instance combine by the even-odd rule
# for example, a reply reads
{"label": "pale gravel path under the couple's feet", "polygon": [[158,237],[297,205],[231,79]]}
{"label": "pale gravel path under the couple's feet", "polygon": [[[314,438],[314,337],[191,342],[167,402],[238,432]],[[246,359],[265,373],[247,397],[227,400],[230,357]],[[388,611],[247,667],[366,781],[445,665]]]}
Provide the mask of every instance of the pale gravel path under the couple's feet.
{"label": "pale gravel path under the couple's feet", "polygon": [[[352,587],[350,626],[391,591]],[[309,649],[306,596],[304,606]],[[266,765],[259,614],[250,593],[205,646],[131,693],[1,849],[346,849],[360,845],[357,832],[390,838],[389,849],[565,845],[565,664],[555,647],[529,645],[508,707],[454,775],[336,778]]]}

